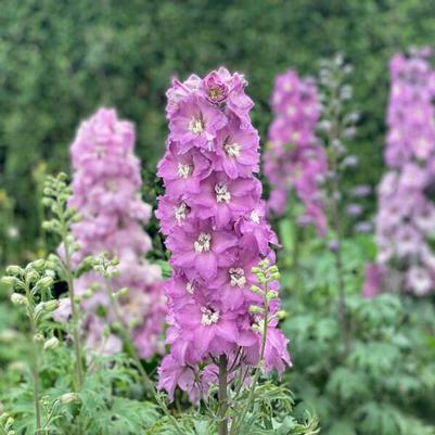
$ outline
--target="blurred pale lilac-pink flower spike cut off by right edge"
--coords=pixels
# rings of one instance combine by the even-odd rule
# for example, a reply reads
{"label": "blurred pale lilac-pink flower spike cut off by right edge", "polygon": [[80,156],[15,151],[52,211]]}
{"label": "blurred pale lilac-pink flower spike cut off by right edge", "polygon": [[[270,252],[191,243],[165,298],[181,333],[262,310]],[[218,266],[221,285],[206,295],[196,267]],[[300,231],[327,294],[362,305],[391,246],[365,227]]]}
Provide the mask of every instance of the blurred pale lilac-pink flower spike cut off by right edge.
{"label": "blurred pale lilac-pink flower spike cut off by right edge", "polygon": [[385,161],[379,187],[378,264],[400,272],[400,287],[418,295],[435,287],[435,73],[427,50],[389,64],[391,95]]}

